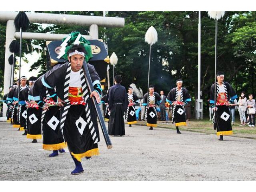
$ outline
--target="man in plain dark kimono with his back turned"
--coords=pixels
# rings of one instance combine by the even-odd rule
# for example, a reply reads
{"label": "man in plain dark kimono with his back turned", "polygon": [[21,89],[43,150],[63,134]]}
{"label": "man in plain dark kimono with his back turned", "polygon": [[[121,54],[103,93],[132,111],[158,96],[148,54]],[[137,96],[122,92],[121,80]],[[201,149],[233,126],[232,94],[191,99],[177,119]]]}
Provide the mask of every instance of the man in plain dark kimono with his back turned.
{"label": "man in plain dark kimono with his back turned", "polygon": [[114,136],[125,135],[124,129],[124,111],[128,105],[126,89],[121,85],[122,77],[116,75],[115,85],[110,87],[108,92],[108,110],[110,118],[108,122],[108,134]]}

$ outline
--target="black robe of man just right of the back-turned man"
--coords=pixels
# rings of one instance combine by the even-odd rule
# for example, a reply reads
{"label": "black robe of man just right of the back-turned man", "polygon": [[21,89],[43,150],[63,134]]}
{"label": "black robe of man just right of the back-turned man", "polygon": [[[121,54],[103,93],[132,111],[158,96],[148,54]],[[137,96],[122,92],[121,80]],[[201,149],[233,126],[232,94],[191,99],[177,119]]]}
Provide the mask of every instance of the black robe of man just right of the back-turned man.
{"label": "black robe of man just right of the back-turned man", "polygon": [[[136,114],[135,114],[135,103],[138,103],[138,97],[136,94],[132,93],[132,99],[129,100],[129,93],[127,94],[128,98],[128,106],[126,110],[126,120],[127,124],[135,124],[137,123]],[[132,104],[132,106],[129,106],[129,103]]]}

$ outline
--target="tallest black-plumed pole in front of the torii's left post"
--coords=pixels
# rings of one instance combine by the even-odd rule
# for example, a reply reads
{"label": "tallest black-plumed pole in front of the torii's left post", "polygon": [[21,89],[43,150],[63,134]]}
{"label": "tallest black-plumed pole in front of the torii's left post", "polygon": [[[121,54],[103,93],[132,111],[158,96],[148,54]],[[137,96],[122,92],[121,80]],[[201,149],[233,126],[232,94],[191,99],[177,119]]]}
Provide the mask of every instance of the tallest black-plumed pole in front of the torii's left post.
{"label": "tallest black-plumed pole in front of the torii's left post", "polygon": [[[24,11],[20,11],[14,19],[14,25],[16,31],[20,30],[20,65],[21,65],[21,55],[22,55],[22,31],[26,31],[28,29],[29,20],[28,16]],[[19,65],[19,80],[20,80],[20,65]],[[20,97],[20,89],[18,89],[18,103]],[[18,117],[20,116],[20,110],[18,108]],[[20,121],[20,120],[18,120]]]}

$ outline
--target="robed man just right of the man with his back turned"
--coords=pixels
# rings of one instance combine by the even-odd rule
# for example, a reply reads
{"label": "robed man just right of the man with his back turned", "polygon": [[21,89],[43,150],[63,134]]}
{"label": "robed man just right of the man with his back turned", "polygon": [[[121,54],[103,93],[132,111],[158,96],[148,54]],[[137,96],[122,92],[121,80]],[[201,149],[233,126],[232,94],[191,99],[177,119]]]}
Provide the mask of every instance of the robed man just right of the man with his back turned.
{"label": "robed man just right of the man with his back turned", "polygon": [[132,126],[132,124],[137,123],[136,114],[135,114],[135,104],[138,103],[138,96],[133,93],[133,88],[128,87],[128,106],[126,110],[126,120],[127,124],[129,124],[129,127]]}

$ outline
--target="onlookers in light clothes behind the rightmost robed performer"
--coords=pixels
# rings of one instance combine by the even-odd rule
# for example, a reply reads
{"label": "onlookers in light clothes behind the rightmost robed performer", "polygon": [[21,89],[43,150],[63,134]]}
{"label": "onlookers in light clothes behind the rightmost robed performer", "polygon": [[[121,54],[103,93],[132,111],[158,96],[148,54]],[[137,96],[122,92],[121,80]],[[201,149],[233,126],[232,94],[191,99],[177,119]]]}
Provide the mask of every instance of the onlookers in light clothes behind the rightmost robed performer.
{"label": "onlookers in light clothes behind the rightmost robed performer", "polygon": [[[235,122],[235,112],[238,110],[240,116],[240,126],[246,126],[248,124],[249,127],[255,126],[255,100],[253,99],[253,95],[249,94],[249,98],[246,98],[245,92],[242,91],[239,100],[236,99],[229,106],[231,122],[234,125]],[[210,120],[212,120],[213,108],[209,106]]]}

